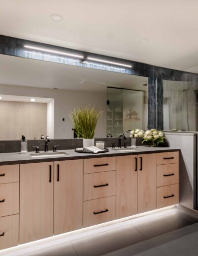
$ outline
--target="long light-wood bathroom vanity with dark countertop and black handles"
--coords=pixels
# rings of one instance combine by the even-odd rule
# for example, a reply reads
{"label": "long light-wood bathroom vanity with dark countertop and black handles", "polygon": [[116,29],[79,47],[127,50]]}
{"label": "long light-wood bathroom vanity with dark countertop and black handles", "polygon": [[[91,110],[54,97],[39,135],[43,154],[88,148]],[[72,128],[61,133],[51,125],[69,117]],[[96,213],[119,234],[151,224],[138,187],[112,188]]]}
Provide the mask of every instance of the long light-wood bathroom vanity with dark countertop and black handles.
{"label": "long light-wood bathroom vanity with dark countertop and black handles", "polygon": [[179,149],[1,154],[0,249],[179,203]]}

